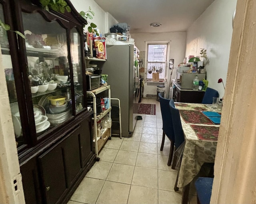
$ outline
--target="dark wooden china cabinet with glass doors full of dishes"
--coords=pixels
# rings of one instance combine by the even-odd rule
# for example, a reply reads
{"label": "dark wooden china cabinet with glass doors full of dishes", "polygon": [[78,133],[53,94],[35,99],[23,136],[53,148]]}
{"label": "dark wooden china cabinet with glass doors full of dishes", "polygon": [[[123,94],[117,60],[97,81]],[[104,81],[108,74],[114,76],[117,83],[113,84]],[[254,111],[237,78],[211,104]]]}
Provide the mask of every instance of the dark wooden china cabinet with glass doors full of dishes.
{"label": "dark wooden china cabinet with glass doors full of dishes", "polygon": [[13,137],[27,204],[66,203],[95,162],[87,110],[83,26],[39,0],[0,0],[0,27]]}

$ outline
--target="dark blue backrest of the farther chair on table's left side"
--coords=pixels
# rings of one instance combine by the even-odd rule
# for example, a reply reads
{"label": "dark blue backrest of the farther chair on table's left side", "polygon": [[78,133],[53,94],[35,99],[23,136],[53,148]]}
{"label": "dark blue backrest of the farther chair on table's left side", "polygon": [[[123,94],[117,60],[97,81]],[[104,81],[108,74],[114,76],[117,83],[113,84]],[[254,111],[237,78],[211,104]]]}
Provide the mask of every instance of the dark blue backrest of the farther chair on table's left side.
{"label": "dark blue backrest of the farther chair on table's left side", "polygon": [[174,130],[172,126],[172,116],[171,116],[171,110],[169,108],[169,102],[170,99],[163,98],[160,93],[158,93],[159,101],[160,101],[160,108],[161,108],[161,114],[162,114],[162,120],[163,120],[163,131],[166,134],[166,136],[174,141]]}

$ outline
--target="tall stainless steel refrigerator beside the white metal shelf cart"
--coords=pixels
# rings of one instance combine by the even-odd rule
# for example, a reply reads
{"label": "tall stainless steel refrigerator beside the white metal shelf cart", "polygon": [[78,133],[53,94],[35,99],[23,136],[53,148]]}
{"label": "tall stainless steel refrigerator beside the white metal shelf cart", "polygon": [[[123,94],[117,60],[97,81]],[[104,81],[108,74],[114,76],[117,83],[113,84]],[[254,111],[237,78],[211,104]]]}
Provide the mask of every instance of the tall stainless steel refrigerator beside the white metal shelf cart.
{"label": "tall stainless steel refrigerator beside the white metal shelf cart", "polygon": [[107,45],[106,51],[102,74],[108,75],[111,98],[120,100],[122,137],[131,137],[139,99],[139,68],[134,66],[134,45]]}

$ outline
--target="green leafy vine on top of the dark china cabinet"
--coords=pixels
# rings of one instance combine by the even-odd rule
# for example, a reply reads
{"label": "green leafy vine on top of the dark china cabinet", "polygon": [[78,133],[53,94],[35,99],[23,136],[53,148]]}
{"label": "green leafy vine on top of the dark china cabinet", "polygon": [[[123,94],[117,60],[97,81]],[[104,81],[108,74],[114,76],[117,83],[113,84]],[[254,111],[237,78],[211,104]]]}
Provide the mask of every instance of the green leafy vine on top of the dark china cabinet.
{"label": "green leafy vine on top of the dark china cabinet", "polygon": [[49,11],[51,8],[52,10],[62,14],[65,13],[65,10],[67,12],[71,12],[70,6],[68,6],[67,2],[64,0],[40,0],[40,3],[46,11]]}

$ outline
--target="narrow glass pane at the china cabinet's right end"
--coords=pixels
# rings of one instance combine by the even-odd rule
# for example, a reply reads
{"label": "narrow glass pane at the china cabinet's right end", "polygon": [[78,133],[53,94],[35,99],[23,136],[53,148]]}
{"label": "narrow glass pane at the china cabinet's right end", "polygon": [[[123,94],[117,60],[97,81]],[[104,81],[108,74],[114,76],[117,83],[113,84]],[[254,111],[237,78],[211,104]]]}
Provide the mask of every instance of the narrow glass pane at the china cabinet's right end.
{"label": "narrow glass pane at the china cabinet's right end", "polygon": [[75,101],[76,113],[83,110],[84,95],[83,95],[83,73],[82,73],[82,53],[81,53],[81,37],[76,28],[71,30],[71,54],[72,66],[75,84]]}

